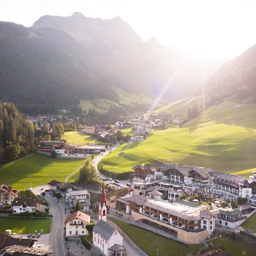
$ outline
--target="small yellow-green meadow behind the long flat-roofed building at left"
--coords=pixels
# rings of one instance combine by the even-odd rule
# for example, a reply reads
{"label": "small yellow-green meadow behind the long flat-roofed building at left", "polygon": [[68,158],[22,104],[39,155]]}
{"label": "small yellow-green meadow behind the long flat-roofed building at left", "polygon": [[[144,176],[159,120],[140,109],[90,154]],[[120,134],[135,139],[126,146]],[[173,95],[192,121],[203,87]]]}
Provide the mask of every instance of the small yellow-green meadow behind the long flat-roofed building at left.
{"label": "small yellow-green meadow behind the long flat-roofed building at left", "polygon": [[90,143],[104,144],[97,139],[93,139],[90,135],[82,132],[65,132],[62,138],[66,139],[68,143],[78,144],[81,146],[85,146]]}

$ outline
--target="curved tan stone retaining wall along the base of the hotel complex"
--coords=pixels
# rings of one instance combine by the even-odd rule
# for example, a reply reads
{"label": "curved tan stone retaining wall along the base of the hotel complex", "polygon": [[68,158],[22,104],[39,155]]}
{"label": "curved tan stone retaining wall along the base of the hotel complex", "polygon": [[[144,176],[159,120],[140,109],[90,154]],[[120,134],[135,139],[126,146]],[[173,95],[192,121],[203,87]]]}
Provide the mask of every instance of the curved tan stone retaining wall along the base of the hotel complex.
{"label": "curved tan stone retaining wall along the base of the hotel complex", "polygon": [[186,243],[201,243],[203,242],[208,236],[209,236],[209,232],[207,230],[201,231],[201,232],[187,232],[185,230],[182,230],[180,228],[176,228],[173,227],[172,225],[154,220],[153,218],[144,216],[142,214],[139,214],[138,212],[135,211],[131,211],[131,216],[133,218],[133,220],[135,221],[139,221],[139,220],[148,220],[151,222],[155,222],[159,225],[162,225],[164,227],[167,227],[169,229],[175,230],[178,233],[177,238],[182,241],[182,242],[186,242]]}

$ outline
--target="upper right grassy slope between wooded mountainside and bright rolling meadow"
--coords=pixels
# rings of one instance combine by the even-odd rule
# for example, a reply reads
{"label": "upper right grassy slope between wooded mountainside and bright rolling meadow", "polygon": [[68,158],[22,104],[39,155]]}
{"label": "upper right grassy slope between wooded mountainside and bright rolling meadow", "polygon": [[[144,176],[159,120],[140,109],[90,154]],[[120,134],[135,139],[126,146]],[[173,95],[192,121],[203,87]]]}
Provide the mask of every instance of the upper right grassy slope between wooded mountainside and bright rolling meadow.
{"label": "upper right grassy slope between wooded mountainside and bright rolling meadow", "polygon": [[182,127],[212,122],[256,129],[256,105],[240,104],[239,109],[236,106],[237,104],[233,102],[223,102],[220,105],[209,107],[198,117],[182,125]]}

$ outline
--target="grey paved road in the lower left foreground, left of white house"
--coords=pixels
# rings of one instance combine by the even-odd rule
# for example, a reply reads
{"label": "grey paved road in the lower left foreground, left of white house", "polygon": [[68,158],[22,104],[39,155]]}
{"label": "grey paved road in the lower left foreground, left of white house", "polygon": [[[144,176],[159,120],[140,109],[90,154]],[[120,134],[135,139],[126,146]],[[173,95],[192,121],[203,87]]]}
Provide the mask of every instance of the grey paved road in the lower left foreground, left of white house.
{"label": "grey paved road in the lower left foreground, left of white house", "polygon": [[[44,186],[38,186],[33,188],[33,192],[35,194],[40,194],[42,191],[41,188],[48,188],[48,185]],[[64,256],[66,255],[66,248],[65,248],[65,242],[64,242],[64,221],[66,218],[66,215],[68,215],[69,211],[67,211],[67,214],[65,214],[65,206],[68,208],[68,205],[64,202],[58,202],[58,199],[56,197],[52,197],[50,195],[51,192],[46,192],[45,198],[49,202],[50,206],[50,213],[53,215],[52,217],[52,228],[51,232],[47,235],[42,235],[42,241],[40,243],[42,244],[42,248],[46,248],[46,246],[49,249],[53,250],[52,256]],[[45,246],[44,246],[45,243]]]}

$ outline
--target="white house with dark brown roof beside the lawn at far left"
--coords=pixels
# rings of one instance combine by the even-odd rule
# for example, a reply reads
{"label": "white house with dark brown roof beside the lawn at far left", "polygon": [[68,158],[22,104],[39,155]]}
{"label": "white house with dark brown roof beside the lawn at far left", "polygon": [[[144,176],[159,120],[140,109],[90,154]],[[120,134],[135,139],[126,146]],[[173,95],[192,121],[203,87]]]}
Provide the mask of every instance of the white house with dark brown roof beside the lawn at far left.
{"label": "white house with dark brown roof beside the lawn at far left", "polygon": [[33,212],[39,201],[32,198],[15,198],[13,202],[14,214],[21,214],[22,212]]}

